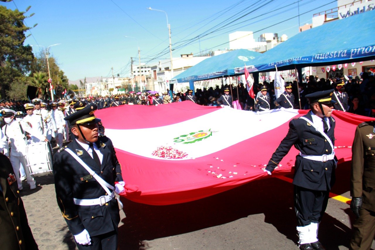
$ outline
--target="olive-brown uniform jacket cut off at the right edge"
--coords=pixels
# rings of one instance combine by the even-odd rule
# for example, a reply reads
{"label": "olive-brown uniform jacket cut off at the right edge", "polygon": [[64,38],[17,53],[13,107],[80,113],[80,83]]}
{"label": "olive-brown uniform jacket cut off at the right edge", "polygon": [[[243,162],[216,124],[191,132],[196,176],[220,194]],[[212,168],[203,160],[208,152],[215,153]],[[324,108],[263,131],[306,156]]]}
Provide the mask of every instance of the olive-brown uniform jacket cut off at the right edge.
{"label": "olive-brown uniform jacket cut off at the right edge", "polygon": [[356,128],[352,147],[350,195],[362,196],[362,208],[375,211],[375,122]]}

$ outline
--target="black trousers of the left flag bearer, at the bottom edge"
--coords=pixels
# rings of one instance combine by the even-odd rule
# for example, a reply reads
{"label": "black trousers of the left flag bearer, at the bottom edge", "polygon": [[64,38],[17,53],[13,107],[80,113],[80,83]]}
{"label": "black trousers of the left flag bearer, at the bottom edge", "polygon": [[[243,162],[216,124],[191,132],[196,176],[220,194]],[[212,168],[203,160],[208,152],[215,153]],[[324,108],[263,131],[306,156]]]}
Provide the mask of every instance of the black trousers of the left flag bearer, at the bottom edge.
{"label": "black trousers of the left flag bearer, at the bottom edge", "polygon": [[91,244],[90,245],[81,245],[75,241],[79,250],[117,250],[117,232],[113,230],[108,233],[104,233],[97,236],[90,236]]}

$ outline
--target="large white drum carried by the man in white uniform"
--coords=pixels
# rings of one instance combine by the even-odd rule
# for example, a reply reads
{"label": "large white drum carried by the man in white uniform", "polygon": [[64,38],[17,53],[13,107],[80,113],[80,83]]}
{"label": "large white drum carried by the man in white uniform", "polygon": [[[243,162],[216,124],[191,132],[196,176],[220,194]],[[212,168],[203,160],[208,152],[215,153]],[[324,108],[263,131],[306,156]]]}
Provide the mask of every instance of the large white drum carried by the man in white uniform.
{"label": "large white drum carried by the man in white uniform", "polygon": [[30,174],[35,176],[52,173],[52,150],[49,142],[26,145],[26,160]]}

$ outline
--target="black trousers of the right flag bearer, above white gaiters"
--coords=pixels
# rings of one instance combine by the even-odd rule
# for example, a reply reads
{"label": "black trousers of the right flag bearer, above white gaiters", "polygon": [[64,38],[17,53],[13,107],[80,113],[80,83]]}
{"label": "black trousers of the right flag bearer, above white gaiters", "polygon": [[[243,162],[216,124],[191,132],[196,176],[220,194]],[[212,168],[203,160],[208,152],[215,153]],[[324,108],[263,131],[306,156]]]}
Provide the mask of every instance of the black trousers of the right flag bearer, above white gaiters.
{"label": "black trousers of the right flag bearer, above white gaiters", "polygon": [[317,191],[294,185],[294,211],[297,226],[319,223],[327,208],[329,191]]}

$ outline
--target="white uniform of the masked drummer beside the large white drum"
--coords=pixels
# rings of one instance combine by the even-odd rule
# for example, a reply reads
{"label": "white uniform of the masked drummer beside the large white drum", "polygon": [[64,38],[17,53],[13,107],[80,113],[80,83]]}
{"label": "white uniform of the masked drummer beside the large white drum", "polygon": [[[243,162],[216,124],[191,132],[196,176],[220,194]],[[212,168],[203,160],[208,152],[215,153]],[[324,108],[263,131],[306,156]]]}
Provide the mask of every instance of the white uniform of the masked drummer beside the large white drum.
{"label": "white uniform of the masked drummer beside the large white drum", "polygon": [[[27,178],[27,183],[30,187],[35,187],[34,178],[30,175],[30,172],[27,167],[26,161],[26,135],[22,133],[22,130],[29,133],[32,136],[35,136],[39,140],[45,140],[45,136],[40,134],[37,130],[33,130],[26,122],[23,120],[12,120],[10,123],[3,126],[1,129],[6,139],[10,142],[10,162],[12,163],[13,171],[18,173],[20,171],[20,163],[22,164]],[[6,145],[4,149],[5,155],[9,156],[9,144]],[[22,183],[20,176],[16,174],[18,189],[22,189]]]}

